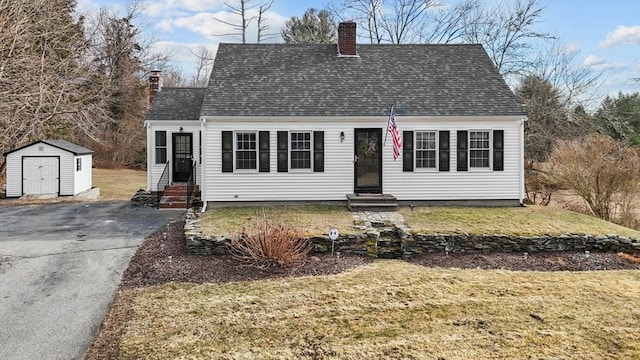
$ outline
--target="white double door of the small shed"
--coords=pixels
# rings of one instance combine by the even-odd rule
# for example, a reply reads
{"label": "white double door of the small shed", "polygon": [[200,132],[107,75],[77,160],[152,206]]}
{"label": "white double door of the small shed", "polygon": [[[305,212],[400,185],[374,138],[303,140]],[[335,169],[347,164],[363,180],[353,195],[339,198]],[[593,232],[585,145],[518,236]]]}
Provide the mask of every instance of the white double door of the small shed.
{"label": "white double door of the small shed", "polygon": [[22,158],[23,195],[57,194],[59,192],[60,158]]}

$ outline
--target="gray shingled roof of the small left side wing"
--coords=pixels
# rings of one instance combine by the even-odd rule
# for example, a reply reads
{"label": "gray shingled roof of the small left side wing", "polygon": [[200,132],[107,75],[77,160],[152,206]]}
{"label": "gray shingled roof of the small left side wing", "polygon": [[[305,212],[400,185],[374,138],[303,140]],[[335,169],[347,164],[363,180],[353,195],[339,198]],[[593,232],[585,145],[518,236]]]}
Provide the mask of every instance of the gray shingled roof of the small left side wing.
{"label": "gray shingled roof of the small left side wing", "polygon": [[206,88],[162,88],[145,120],[199,120]]}

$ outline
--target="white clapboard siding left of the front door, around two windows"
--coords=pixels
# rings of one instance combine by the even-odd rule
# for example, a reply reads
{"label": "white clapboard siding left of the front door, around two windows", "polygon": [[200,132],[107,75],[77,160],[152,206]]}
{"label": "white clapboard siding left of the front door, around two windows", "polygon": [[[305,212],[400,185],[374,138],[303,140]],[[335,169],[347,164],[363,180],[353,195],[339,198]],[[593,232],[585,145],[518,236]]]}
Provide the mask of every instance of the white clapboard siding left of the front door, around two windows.
{"label": "white clapboard siding left of the front door, around two windows", "polygon": [[[222,131],[269,131],[270,172],[222,172]],[[324,131],[324,172],[277,171],[278,131]],[[345,140],[340,142],[340,132]],[[353,128],[339,123],[207,124],[206,201],[344,200],[353,192]],[[235,157],[235,154],[234,154]]]}

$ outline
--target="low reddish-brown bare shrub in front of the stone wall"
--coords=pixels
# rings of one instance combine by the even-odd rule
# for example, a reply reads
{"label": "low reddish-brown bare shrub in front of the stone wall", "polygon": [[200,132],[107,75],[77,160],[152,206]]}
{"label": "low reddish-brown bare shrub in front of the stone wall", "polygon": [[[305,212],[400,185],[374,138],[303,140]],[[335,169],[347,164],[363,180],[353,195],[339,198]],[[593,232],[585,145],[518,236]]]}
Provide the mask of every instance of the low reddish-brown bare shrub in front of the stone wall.
{"label": "low reddish-brown bare shrub in front of the stone wall", "polygon": [[288,224],[262,218],[227,243],[234,258],[257,267],[288,267],[305,258],[311,249],[303,232]]}

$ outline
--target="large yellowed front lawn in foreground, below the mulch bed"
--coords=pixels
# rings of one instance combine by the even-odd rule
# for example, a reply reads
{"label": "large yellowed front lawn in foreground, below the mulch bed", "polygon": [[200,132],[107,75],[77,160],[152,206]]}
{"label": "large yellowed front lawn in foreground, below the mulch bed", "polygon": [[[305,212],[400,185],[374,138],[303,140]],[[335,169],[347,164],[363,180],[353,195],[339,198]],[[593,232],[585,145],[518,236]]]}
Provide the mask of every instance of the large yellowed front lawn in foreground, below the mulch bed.
{"label": "large yellowed front lawn in foreground, below the mulch bed", "polygon": [[119,358],[637,359],[639,281],[378,261],[335,276],[169,284],[134,300]]}

